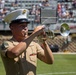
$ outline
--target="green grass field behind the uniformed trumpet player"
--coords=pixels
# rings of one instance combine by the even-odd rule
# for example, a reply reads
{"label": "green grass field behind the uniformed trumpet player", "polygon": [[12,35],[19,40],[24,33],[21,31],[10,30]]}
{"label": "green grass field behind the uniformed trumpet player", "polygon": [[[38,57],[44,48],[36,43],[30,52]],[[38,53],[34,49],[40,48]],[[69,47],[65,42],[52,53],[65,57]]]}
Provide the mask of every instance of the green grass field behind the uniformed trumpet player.
{"label": "green grass field behind the uniformed trumpet player", "polygon": [[[76,75],[76,54],[54,54],[54,58],[53,65],[38,60],[37,75]],[[5,75],[1,59],[0,75]]]}

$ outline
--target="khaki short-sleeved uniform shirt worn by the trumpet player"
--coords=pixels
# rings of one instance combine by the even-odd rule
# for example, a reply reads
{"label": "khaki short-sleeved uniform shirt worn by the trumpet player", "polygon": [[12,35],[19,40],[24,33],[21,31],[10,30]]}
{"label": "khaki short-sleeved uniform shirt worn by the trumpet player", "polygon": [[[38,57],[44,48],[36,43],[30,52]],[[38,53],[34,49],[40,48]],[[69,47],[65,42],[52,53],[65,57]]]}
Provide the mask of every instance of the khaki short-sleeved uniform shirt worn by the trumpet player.
{"label": "khaki short-sleeved uniform shirt worn by the trumpet player", "polygon": [[36,42],[31,42],[29,47],[18,57],[8,58],[6,52],[9,47],[14,47],[19,42],[11,39],[0,46],[0,53],[4,63],[6,75],[36,75],[37,54],[42,54],[43,49]]}

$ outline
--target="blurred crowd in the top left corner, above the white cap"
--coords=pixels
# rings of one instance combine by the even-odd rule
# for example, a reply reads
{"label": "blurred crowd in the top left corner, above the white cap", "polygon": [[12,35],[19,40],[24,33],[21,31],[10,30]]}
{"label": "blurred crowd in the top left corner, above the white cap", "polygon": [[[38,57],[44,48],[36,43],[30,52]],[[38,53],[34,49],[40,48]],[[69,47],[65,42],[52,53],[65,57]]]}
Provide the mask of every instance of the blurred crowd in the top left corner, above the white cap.
{"label": "blurred crowd in the top left corner, above the white cap", "polygon": [[12,7],[17,6],[17,0],[0,0],[0,21],[3,21],[3,17],[11,12],[11,8],[7,9],[5,7],[6,1],[10,2]]}

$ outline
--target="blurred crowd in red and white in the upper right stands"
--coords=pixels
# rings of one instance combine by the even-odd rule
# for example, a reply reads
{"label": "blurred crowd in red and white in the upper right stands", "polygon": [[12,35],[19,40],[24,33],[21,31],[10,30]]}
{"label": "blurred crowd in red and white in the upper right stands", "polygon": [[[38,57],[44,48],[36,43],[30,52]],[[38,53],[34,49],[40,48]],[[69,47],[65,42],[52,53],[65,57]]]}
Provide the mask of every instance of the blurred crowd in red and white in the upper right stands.
{"label": "blurred crowd in red and white in the upper right stands", "polygon": [[[59,0],[58,6],[57,6],[58,17],[61,17],[61,18],[74,17],[72,9],[76,9],[76,0],[71,0],[71,1],[72,3],[69,3],[69,0]],[[68,3],[63,3],[63,2],[68,2]]]}

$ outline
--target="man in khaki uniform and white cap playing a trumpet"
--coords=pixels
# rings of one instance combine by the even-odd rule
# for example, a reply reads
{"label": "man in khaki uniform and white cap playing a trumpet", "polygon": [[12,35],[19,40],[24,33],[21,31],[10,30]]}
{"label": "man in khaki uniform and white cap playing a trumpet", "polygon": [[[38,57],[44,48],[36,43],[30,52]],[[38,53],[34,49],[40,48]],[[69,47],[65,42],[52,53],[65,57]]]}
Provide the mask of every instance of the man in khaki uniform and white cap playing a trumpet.
{"label": "man in khaki uniform and white cap playing a trumpet", "polygon": [[37,58],[47,64],[53,64],[54,57],[46,42],[46,36],[42,42],[44,48],[33,41],[38,35],[45,35],[45,26],[37,26],[28,36],[27,14],[27,9],[18,9],[4,18],[9,23],[13,35],[11,39],[4,41],[0,46],[6,75],[36,75]]}

